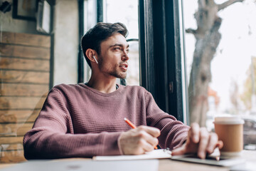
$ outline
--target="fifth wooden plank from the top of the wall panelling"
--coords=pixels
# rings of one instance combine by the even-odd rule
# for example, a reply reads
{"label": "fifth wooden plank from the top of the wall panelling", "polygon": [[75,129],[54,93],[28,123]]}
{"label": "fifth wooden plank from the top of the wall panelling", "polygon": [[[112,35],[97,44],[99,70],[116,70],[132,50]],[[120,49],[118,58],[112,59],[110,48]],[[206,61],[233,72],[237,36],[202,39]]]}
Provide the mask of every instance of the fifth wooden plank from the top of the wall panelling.
{"label": "fifth wooden plank from the top of the wall panelling", "polygon": [[32,96],[43,97],[48,94],[48,85],[35,85],[24,83],[2,83],[0,94],[2,96]]}

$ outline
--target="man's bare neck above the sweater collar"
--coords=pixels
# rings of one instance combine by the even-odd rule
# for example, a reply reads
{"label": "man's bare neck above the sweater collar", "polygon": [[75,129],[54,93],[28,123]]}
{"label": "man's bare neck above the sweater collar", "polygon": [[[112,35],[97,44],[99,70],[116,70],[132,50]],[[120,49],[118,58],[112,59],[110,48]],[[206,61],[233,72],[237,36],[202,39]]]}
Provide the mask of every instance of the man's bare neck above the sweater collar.
{"label": "man's bare neck above the sweater collar", "polygon": [[87,86],[94,88],[95,90],[98,90],[102,93],[112,93],[117,89],[116,80],[116,78],[104,80],[91,77],[90,81],[87,83]]}

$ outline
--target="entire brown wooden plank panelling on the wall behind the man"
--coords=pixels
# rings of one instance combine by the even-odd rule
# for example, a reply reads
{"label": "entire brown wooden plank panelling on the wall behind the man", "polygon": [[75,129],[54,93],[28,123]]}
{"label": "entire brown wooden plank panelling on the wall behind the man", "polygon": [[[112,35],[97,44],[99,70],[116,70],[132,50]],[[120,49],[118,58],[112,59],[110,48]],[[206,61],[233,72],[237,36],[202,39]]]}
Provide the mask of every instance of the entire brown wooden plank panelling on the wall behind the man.
{"label": "entire brown wooden plank panelling on the wall behind the man", "polygon": [[0,162],[21,162],[50,82],[50,36],[1,32]]}

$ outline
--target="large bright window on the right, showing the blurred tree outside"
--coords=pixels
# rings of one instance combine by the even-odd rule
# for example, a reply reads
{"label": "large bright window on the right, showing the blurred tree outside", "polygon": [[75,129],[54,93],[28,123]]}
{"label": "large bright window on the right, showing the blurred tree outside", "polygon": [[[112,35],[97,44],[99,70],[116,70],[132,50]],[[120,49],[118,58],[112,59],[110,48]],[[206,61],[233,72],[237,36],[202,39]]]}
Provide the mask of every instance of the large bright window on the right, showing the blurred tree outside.
{"label": "large bright window on the right, showing the blurred tree outside", "polygon": [[[256,2],[183,0],[191,122],[213,130],[216,115],[245,120],[256,143]],[[239,12],[238,12],[239,11]]]}

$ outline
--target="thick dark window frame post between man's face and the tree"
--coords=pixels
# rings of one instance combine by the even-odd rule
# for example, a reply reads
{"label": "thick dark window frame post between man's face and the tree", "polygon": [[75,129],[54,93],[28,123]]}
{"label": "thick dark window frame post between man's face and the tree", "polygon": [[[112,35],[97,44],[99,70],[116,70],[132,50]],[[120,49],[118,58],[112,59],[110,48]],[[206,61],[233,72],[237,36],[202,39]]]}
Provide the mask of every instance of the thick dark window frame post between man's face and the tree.
{"label": "thick dark window frame post between man's face and the tree", "polygon": [[188,113],[183,114],[187,100],[182,92],[181,2],[139,0],[139,55],[141,86],[151,92],[159,108],[184,122]]}

